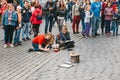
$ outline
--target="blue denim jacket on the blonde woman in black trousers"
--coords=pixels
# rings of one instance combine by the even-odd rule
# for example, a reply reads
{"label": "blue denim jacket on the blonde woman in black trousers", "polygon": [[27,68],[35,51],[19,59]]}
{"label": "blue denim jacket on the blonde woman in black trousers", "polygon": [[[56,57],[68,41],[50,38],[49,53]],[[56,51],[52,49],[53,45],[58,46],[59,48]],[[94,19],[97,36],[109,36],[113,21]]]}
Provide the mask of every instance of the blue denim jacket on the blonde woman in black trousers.
{"label": "blue denim jacket on the blonde woman in black trousers", "polygon": [[2,16],[2,25],[11,25],[11,26],[15,26],[16,27],[16,22],[18,20],[17,18],[17,13],[15,11],[12,12],[12,20],[11,23],[8,24],[8,10],[6,10]]}

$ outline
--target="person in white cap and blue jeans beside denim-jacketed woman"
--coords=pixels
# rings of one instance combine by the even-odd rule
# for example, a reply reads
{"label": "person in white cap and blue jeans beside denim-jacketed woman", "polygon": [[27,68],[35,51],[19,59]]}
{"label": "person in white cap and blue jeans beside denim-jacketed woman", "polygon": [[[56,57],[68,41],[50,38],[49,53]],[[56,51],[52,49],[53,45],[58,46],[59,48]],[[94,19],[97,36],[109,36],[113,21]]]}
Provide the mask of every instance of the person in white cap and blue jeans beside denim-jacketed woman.
{"label": "person in white cap and blue jeans beside denim-jacketed woman", "polygon": [[17,16],[18,16],[18,22],[17,22],[17,29],[15,31],[15,37],[14,37],[14,46],[22,45],[22,42],[20,41],[20,33],[22,28],[22,7],[17,6]]}

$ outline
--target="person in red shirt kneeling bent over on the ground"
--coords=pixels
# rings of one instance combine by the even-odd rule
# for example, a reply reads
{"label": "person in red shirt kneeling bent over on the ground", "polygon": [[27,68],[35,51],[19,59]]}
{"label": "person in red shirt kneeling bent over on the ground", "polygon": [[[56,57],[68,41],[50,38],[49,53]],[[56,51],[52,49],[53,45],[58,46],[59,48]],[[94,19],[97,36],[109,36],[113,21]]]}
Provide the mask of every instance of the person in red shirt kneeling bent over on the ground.
{"label": "person in red shirt kneeling bent over on the ground", "polygon": [[34,49],[29,49],[31,51],[50,51],[50,46],[54,42],[54,37],[51,33],[40,34],[32,40],[32,46]]}

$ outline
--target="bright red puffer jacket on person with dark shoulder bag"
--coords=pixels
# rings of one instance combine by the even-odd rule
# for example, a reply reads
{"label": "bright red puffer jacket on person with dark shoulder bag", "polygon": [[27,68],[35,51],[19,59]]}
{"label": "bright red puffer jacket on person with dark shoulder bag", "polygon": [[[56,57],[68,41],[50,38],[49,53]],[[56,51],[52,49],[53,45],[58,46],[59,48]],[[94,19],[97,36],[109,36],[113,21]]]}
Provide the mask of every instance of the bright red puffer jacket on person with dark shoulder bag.
{"label": "bright red puffer jacket on person with dark shoulder bag", "polygon": [[42,23],[42,20],[37,20],[36,19],[36,16],[37,15],[41,15],[42,16],[42,11],[39,9],[39,8],[36,8],[33,13],[32,13],[32,16],[30,18],[30,21],[32,24],[41,24]]}

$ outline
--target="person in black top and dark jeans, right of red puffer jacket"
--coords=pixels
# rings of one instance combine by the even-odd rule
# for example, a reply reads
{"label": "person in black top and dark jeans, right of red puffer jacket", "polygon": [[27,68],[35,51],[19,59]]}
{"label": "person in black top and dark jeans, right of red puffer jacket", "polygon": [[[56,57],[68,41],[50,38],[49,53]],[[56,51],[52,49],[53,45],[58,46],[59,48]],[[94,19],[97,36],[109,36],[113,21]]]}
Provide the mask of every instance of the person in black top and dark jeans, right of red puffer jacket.
{"label": "person in black top and dark jeans, right of red puffer jacket", "polygon": [[52,0],[47,1],[45,4],[45,8],[46,8],[45,33],[47,33],[48,26],[49,26],[49,32],[52,32],[55,3]]}

